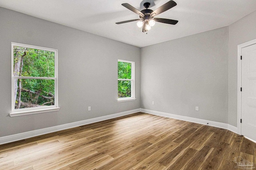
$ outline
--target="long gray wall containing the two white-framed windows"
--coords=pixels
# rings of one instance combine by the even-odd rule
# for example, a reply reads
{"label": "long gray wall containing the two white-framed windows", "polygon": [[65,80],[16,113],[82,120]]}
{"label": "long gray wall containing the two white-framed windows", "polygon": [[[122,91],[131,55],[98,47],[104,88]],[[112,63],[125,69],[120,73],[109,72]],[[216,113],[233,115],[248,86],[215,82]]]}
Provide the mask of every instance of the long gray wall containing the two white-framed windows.
{"label": "long gray wall containing the two white-framed windows", "polygon": [[[5,8],[0,16],[0,137],[140,108],[140,48]],[[60,111],[9,116],[11,42],[58,49]],[[136,101],[117,102],[118,59],[135,62]]]}

